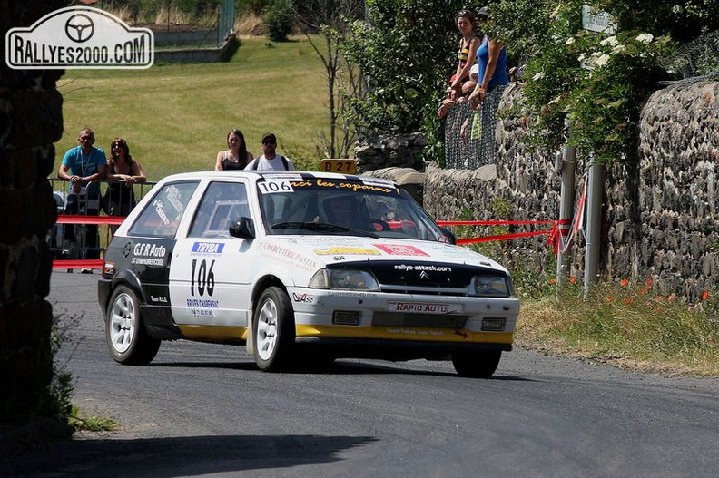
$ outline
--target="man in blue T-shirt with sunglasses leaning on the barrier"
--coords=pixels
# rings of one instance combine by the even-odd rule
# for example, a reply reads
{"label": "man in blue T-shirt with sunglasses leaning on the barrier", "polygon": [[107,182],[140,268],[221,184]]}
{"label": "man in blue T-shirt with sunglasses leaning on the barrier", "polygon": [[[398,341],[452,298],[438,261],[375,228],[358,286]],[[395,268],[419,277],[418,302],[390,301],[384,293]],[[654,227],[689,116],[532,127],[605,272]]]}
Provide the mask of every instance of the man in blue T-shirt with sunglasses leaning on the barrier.
{"label": "man in blue T-shirt with sunglasses leaning on the barrier", "polygon": [[[94,147],[94,132],[90,128],[80,131],[77,138],[79,146],[65,152],[57,177],[61,180],[69,180],[71,183],[70,194],[67,197],[65,212],[77,214],[81,208],[79,200],[84,195],[85,213],[88,216],[97,216],[100,213],[100,180],[105,179],[107,160],[102,149]],[[75,193],[74,191],[78,191]],[[82,259],[99,259],[97,225],[87,225],[86,250],[83,250]],[[65,224],[64,228],[64,255],[73,255],[77,238],[75,236],[74,224]],[[83,268],[84,274],[92,274],[93,270]]]}

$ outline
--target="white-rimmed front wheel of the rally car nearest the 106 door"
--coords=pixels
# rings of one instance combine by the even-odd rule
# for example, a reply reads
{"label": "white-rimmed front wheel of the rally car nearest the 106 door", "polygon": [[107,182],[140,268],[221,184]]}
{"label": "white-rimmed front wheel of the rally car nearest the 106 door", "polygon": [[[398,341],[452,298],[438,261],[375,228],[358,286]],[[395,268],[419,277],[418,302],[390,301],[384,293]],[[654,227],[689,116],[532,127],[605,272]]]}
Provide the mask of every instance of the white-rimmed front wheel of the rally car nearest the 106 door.
{"label": "white-rimmed front wheel of the rally car nearest the 106 door", "polygon": [[295,341],[294,311],[282,288],[266,288],[252,317],[255,363],[265,372],[287,368]]}

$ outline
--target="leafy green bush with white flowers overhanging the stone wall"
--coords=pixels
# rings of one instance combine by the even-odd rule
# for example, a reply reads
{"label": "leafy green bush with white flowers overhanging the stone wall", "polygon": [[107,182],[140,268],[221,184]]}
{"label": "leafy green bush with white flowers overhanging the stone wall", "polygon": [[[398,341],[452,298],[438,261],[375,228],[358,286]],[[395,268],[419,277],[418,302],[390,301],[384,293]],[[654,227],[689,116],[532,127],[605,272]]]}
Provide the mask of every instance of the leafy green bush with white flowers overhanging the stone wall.
{"label": "leafy green bush with white flowers overhanging the stone wall", "polygon": [[613,33],[582,30],[581,0],[500,1],[490,5],[490,34],[527,60],[524,107],[534,141],[550,148],[569,139],[600,162],[635,162],[641,106],[672,79],[659,64],[676,44],[719,27],[716,0],[684,4],[610,0],[592,4],[616,24]]}

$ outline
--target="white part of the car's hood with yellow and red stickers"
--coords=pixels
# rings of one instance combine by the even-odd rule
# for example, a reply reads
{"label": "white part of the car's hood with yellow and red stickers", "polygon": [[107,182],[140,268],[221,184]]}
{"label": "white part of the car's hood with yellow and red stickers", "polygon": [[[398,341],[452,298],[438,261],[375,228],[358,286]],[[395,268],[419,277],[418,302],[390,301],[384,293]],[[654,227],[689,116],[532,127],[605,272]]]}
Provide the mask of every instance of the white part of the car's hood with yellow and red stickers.
{"label": "white part of the car's hood with yellow and red stickers", "polygon": [[428,264],[461,264],[507,272],[497,262],[471,249],[427,240],[363,238],[348,236],[270,236],[268,248],[291,250],[297,258],[323,265],[343,262],[404,261]]}

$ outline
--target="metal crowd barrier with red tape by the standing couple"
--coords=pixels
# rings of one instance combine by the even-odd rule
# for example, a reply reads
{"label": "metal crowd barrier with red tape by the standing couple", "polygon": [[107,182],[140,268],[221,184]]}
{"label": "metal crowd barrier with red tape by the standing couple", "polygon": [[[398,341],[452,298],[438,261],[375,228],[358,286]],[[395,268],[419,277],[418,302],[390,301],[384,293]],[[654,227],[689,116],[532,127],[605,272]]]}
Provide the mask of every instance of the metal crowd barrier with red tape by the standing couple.
{"label": "metal crowd barrier with red tape by the standing couple", "polygon": [[[102,267],[101,255],[104,252],[98,226],[108,226],[104,244],[110,241],[111,229],[122,223],[129,214],[135,201],[141,200],[154,182],[125,183],[124,181],[100,180],[79,185],[73,189],[68,180],[49,179],[59,219],[47,234],[47,244],[54,259],[54,268],[97,268]],[[103,196],[111,184],[117,191],[114,201],[125,205],[113,212],[113,216],[101,215]],[[90,194],[88,194],[90,191]],[[115,206],[117,208],[117,206]]]}

